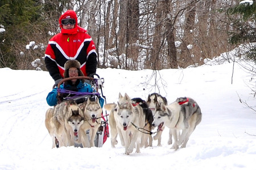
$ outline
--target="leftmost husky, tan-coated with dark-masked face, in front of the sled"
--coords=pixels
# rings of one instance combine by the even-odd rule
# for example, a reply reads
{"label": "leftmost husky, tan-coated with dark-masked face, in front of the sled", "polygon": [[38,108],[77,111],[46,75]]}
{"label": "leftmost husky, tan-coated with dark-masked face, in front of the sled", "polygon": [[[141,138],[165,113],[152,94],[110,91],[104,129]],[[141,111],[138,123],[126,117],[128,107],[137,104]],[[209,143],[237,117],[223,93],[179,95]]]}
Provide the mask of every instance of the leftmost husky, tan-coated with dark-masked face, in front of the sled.
{"label": "leftmost husky, tan-coated with dark-masked face, in front of the sled", "polygon": [[[77,118],[76,124],[78,126],[72,124],[73,118]],[[79,131],[79,126],[83,122],[82,111],[75,101],[63,101],[53,109],[49,108],[46,112],[45,124],[52,137],[52,147],[55,147],[56,139],[60,147],[73,146],[77,136],[76,131]]]}

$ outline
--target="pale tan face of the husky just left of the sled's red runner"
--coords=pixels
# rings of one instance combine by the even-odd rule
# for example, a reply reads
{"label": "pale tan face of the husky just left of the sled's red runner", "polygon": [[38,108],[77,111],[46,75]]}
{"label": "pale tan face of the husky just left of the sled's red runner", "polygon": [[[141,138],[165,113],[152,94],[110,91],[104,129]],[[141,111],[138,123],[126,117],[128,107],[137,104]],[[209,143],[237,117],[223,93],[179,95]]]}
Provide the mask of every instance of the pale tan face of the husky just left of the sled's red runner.
{"label": "pale tan face of the husky just left of the sled's red runner", "polygon": [[88,99],[85,108],[85,114],[92,119],[93,123],[96,122],[97,118],[101,117],[101,113],[102,109],[98,98],[96,99],[96,101],[90,101],[90,99]]}

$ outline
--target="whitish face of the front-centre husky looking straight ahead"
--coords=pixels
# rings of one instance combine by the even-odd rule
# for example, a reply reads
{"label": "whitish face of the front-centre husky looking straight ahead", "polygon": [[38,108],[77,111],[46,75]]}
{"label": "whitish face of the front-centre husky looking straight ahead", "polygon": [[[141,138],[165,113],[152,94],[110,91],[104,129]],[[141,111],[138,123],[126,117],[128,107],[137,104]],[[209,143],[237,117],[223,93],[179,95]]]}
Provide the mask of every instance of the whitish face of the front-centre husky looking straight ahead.
{"label": "whitish face of the front-centre husky looking straight ahead", "polygon": [[121,105],[118,103],[115,111],[117,112],[118,123],[123,126],[123,130],[127,130],[130,126],[131,120],[133,120],[133,105],[131,102],[128,104]]}

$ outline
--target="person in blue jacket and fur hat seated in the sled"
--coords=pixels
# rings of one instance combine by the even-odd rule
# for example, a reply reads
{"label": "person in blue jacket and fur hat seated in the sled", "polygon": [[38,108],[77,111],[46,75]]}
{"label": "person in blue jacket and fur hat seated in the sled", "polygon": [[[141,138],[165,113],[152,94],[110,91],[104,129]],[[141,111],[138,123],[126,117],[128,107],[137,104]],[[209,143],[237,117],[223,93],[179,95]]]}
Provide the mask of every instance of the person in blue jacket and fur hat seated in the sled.
{"label": "person in blue jacket and fur hat seated in the sled", "polygon": [[[64,65],[64,78],[75,77],[75,76],[84,76],[80,69],[81,65],[76,59],[68,60]],[[76,92],[94,92],[90,84],[85,83],[84,79],[72,79],[67,80],[60,85],[60,89],[76,91]],[[61,94],[59,97],[66,97],[70,94]],[[53,88],[51,92],[46,97],[47,104],[49,106],[55,106],[57,104],[57,87]],[[99,99],[101,107],[103,107],[104,99],[100,97]]]}

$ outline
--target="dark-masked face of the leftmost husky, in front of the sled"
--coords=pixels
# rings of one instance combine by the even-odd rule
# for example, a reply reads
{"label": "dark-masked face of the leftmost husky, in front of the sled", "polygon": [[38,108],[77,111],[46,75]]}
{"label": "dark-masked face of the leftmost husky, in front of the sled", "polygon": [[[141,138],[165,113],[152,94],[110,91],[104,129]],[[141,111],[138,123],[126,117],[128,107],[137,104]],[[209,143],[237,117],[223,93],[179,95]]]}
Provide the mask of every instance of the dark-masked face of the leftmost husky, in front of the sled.
{"label": "dark-masked face of the leftmost husky, in front of the sled", "polygon": [[75,137],[77,136],[77,132],[79,131],[80,126],[84,123],[84,118],[80,115],[79,109],[72,111],[72,116],[68,119],[68,124],[72,127]]}

